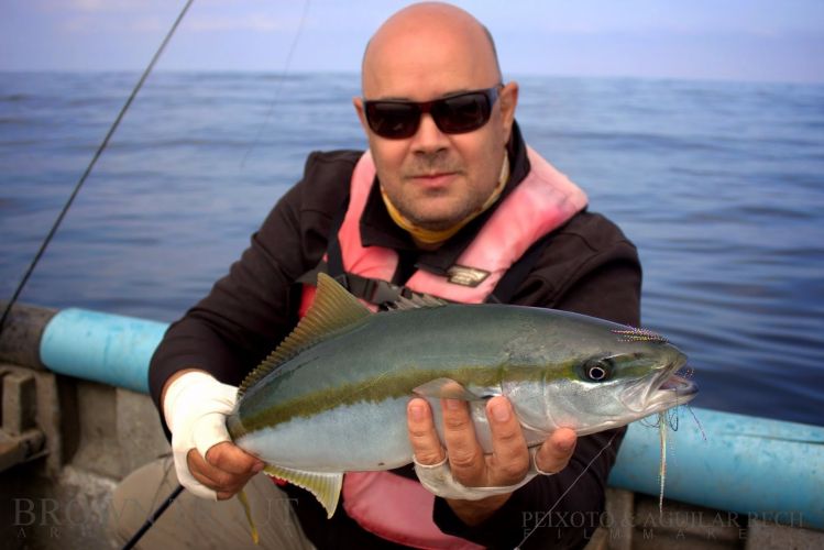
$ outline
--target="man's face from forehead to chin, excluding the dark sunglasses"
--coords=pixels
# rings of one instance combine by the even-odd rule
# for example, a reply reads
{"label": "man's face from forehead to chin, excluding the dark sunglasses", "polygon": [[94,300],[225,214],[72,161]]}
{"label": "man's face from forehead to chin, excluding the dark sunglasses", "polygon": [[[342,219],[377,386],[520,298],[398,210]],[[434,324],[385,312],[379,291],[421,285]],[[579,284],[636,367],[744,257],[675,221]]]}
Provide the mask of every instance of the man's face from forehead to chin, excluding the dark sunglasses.
{"label": "man's face from forehead to chin, excluding the dark sunglasses", "polygon": [[[494,56],[480,54],[476,41],[444,33],[436,38],[402,33],[373,43],[364,63],[364,99],[422,102],[498,84]],[[481,51],[491,52],[482,40]],[[410,138],[387,139],[370,130],[361,98],[354,100],[384,191],[400,213],[429,230],[459,223],[491,196],[516,102],[513,82],[499,89],[488,122],[475,131],[444,133],[426,113]]]}

